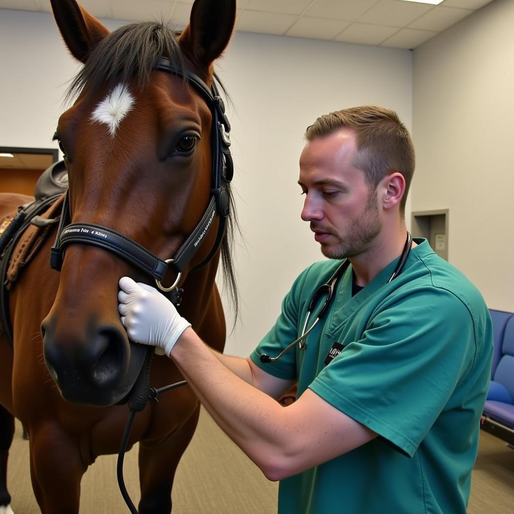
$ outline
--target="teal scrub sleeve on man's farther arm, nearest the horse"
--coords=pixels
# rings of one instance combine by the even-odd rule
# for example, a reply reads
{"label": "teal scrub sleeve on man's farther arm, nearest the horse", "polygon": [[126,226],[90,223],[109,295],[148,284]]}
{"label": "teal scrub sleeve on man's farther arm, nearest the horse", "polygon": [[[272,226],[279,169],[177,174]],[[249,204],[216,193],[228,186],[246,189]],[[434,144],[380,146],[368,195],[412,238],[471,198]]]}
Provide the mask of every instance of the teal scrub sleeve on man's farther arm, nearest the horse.
{"label": "teal scrub sleeve on man's farther arm, nearest the horse", "polygon": [[[314,265],[313,265],[314,266]],[[250,358],[253,363],[266,373],[285,380],[295,380],[298,378],[296,366],[296,348],[291,348],[276,362],[263,363],[260,356],[265,353],[271,357],[276,357],[284,348],[300,336],[299,318],[302,312],[302,291],[307,280],[310,266],[304,270],[293,283],[290,291],[282,301],[282,312],[271,330],[264,336]]]}

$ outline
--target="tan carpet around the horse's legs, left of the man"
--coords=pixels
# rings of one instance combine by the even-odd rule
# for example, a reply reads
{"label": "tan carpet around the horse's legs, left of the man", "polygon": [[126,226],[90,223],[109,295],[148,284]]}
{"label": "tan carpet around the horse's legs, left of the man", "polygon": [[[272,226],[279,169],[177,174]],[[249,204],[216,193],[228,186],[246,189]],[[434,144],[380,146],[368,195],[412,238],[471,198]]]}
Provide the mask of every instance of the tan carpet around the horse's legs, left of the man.
{"label": "tan carpet around the horse's legs, left of the man", "polygon": [[[16,423],[9,454],[8,486],[14,514],[39,514],[30,485],[28,441]],[[138,446],[125,456],[124,479],[137,506]],[[182,457],[173,487],[173,514],[267,514],[277,510],[278,484],[261,471],[202,411],[198,428]],[[116,481],[116,456],[104,455],[81,485],[80,514],[126,514]]]}

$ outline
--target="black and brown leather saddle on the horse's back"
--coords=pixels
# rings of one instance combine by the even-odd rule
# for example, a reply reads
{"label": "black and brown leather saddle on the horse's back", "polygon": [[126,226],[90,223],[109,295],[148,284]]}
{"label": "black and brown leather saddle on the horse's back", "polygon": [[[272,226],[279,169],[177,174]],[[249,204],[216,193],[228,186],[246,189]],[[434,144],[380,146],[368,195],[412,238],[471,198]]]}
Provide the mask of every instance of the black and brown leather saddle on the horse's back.
{"label": "black and brown leather saddle on the horse's back", "polygon": [[64,161],[46,169],[36,182],[34,200],[4,219],[0,235],[0,335],[12,346],[8,291],[41,248],[54,224],[59,223],[68,174]]}

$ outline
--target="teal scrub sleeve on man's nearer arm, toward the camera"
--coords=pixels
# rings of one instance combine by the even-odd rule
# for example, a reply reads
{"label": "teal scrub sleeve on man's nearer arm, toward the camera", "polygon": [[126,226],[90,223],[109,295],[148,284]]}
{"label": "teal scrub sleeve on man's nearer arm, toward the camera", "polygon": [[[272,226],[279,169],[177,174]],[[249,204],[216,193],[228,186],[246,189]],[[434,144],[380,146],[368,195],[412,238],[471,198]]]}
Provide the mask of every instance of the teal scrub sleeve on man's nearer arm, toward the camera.
{"label": "teal scrub sleeve on man's nearer arm, toward the camera", "polygon": [[427,288],[383,305],[309,387],[412,456],[475,354],[466,305]]}

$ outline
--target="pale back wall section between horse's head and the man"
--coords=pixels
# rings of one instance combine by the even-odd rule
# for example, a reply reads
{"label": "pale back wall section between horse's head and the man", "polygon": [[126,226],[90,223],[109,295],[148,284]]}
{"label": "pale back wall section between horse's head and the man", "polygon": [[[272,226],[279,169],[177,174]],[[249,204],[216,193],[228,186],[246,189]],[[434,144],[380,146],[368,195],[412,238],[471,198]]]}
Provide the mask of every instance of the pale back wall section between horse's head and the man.
{"label": "pale back wall section between horse's head and the man", "polygon": [[[222,63],[234,100],[234,178],[244,247],[237,249],[241,319],[228,352],[248,354],[306,266],[323,259],[300,219],[305,128],[360,104],[396,109],[411,126],[412,54],[363,45],[237,34]],[[410,214],[409,214],[410,217]]]}

